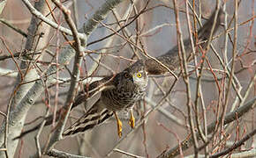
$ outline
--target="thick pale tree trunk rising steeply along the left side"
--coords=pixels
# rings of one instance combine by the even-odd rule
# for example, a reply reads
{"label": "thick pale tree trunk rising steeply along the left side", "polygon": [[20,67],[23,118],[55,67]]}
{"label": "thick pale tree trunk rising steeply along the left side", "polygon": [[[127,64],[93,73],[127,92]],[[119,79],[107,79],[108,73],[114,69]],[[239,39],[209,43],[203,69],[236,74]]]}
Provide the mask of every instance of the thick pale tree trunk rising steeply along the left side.
{"label": "thick pale tree trunk rising steeply along the left side", "polygon": [[[43,1],[37,2],[34,4],[35,8],[37,8],[42,13],[45,13],[47,11],[46,5]],[[49,34],[49,27],[47,25],[41,24],[40,20],[32,17],[31,23],[28,27],[28,33],[26,38],[26,46],[24,54],[28,53],[35,53],[38,50],[41,50],[42,47],[45,47],[46,40],[48,40],[48,34]],[[41,36],[41,33],[43,32],[43,36]],[[40,41],[40,42],[39,42]],[[25,57],[22,56],[23,59]],[[34,60],[40,59],[41,54],[32,54],[31,58]],[[19,135],[23,122],[25,121],[26,115],[19,116],[17,118],[16,122],[13,122],[13,111],[15,111],[15,108],[17,108],[17,104],[20,103],[21,99],[25,97],[26,92],[33,86],[34,83],[26,83],[27,81],[31,81],[34,79],[34,77],[37,78],[37,72],[34,68],[33,61],[21,61],[20,65],[18,67],[19,69],[19,75],[17,76],[17,82],[16,86],[14,87],[14,90],[10,97],[10,103],[8,105],[8,110],[10,109],[10,112],[7,112],[7,119],[4,121],[4,124],[1,127],[1,134],[0,134],[0,144],[2,145],[4,141],[4,128],[7,125],[8,127],[8,133],[5,132],[7,135],[7,151],[9,156],[13,157],[15,154],[16,147],[18,145],[18,140],[12,140],[12,138]],[[26,83],[26,84],[21,84]],[[7,129],[7,128],[5,128]],[[0,156],[3,155],[3,152],[0,153]]]}

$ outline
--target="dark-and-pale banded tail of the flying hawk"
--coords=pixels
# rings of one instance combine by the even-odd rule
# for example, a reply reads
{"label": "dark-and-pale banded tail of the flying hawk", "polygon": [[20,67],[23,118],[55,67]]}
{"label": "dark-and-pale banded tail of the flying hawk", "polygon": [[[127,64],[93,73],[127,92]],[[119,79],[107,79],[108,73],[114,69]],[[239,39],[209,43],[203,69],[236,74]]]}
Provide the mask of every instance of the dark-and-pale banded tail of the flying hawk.
{"label": "dark-and-pale banded tail of the flying hawk", "polygon": [[99,99],[82,118],[79,118],[79,120],[64,131],[63,136],[86,132],[94,128],[94,126],[102,124],[102,122],[113,115],[112,111],[100,109],[99,107],[101,107],[101,99]]}

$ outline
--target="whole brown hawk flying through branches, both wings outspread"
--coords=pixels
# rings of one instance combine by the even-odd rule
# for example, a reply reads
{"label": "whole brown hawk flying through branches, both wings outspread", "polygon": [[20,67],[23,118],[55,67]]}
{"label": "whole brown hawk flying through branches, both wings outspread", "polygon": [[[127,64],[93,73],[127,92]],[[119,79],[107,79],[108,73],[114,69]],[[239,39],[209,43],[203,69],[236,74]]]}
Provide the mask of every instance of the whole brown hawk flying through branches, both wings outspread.
{"label": "whole brown hawk flying through branches, both wings outspread", "polygon": [[[216,32],[221,25],[222,15],[223,11],[221,9],[217,16],[214,32]],[[215,12],[207,20],[205,25],[200,28],[198,32],[198,42],[209,39],[212,25],[214,23],[214,18]],[[191,56],[192,47],[190,44],[190,39],[184,40],[184,47],[186,56]],[[198,47],[197,43],[195,43],[195,47]],[[206,44],[200,44],[200,47],[205,49]],[[162,62],[162,64],[171,70],[177,69],[180,66],[177,47],[173,47],[166,54],[162,54],[161,56],[156,57],[156,59]],[[190,59],[188,59],[188,61],[190,61]],[[140,60],[132,64],[132,66],[124,69],[124,71],[118,73],[117,75],[111,75],[103,78],[100,81],[91,83],[88,88],[85,88],[85,91],[89,91],[90,93],[85,93],[84,91],[79,92],[79,95],[76,97],[72,108],[83,102],[86,102],[87,97],[92,97],[95,91],[102,91],[102,96],[91,107],[91,109],[89,109],[83,117],[79,118],[79,120],[77,120],[71,127],[69,127],[63,133],[63,135],[67,136],[75,133],[85,132],[89,129],[92,129],[94,126],[102,124],[102,122],[115,114],[115,117],[117,118],[117,133],[119,136],[121,136],[122,123],[117,117],[117,111],[130,109],[131,118],[129,123],[133,127],[134,118],[132,116],[132,106],[145,94],[148,80],[147,75],[161,75],[165,74],[166,72],[166,68],[163,68],[159,63],[152,59],[147,59],[145,61]],[[141,75],[140,77],[138,76],[138,73]],[[89,96],[87,94],[89,94]],[[57,112],[57,116],[58,115],[59,112]],[[52,119],[52,116],[46,118],[46,126],[52,123]],[[21,133],[18,138],[24,136],[26,133],[30,133],[38,129],[40,126],[41,124],[35,126],[31,130]]]}

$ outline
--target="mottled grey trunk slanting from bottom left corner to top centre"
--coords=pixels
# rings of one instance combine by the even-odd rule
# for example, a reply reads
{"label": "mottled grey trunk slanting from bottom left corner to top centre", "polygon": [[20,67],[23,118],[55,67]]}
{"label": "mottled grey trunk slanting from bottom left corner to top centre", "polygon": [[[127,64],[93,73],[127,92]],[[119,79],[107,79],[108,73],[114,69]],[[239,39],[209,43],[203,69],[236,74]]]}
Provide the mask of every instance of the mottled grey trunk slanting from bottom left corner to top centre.
{"label": "mottled grey trunk slanting from bottom left corner to top centre", "polygon": [[[99,22],[102,20],[102,18],[106,18],[107,14],[109,13],[109,11],[111,11],[111,9],[115,6],[117,6],[117,4],[120,4],[123,0],[107,0],[105,2],[105,4],[103,4],[101,9],[99,9],[99,11],[96,11],[96,13],[94,14],[94,18],[95,21],[97,21],[96,23],[87,23],[86,24],[86,29],[83,29],[83,31],[89,35],[91,32],[93,32],[94,28],[96,28],[96,26],[99,24]],[[28,2],[26,0],[24,0],[23,2]],[[43,1],[44,2],[44,1]],[[111,6],[111,7],[107,7],[107,6]],[[99,18],[99,19],[98,19]],[[92,20],[92,19],[91,19]],[[89,20],[90,21],[90,20]],[[57,25],[56,25],[57,26]],[[91,28],[92,27],[92,28]],[[72,49],[72,47],[66,47],[64,49],[64,52],[60,54],[59,57],[59,64],[60,67],[63,67],[64,65],[66,65],[67,63],[69,63],[72,60],[72,57],[74,56],[74,50]],[[49,85],[49,83],[52,82],[52,80],[54,80],[54,76],[52,74],[55,74],[56,72],[56,65],[52,65],[49,67],[49,69],[47,70],[45,75],[48,75],[47,81],[45,82],[46,86]],[[44,83],[42,83],[42,81],[36,81],[34,83],[34,86],[28,90],[28,92],[26,93],[26,96],[22,98],[22,100],[19,102],[19,104],[16,106],[16,108],[11,111],[10,113],[10,120],[9,120],[9,131],[15,131],[16,134],[13,134],[9,139],[10,141],[16,141],[17,140],[12,140],[13,138],[19,136],[21,129],[24,125],[24,120],[26,118],[26,114],[27,111],[31,108],[31,106],[34,104],[35,100],[41,96],[41,93],[44,90]],[[1,138],[1,144],[3,144],[4,142],[4,126],[2,126],[2,132],[0,134],[0,138]],[[10,146],[11,147],[11,146]],[[12,147],[14,150],[16,147]]]}

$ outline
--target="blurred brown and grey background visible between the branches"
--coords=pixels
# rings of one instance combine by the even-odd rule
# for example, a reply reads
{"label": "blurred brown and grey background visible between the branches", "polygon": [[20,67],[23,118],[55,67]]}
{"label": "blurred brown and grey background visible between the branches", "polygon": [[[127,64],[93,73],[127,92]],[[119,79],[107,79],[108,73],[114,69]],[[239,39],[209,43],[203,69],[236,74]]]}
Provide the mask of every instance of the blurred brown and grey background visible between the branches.
{"label": "blurred brown and grey background visible between the branches", "polygon": [[[81,28],[84,23],[87,22],[87,18],[91,18],[95,11],[102,6],[105,2],[104,0],[74,0],[75,6],[71,5],[70,10],[72,11],[72,16],[75,16],[77,12],[76,24],[78,28]],[[70,1],[72,2],[72,1]],[[70,5],[67,2],[67,5]],[[132,3],[131,3],[132,2]],[[177,1],[180,10],[185,11],[184,1]],[[189,1],[192,4],[192,1]],[[221,1],[222,2],[222,1]],[[226,3],[226,12],[228,14],[228,21],[233,17],[234,13],[234,2],[233,1],[223,1]],[[223,3],[222,2],[222,3]],[[31,1],[34,4],[34,0]],[[102,39],[106,35],[109,35],[113,31],[109,30],[108,27],[117,30],[120,28],[119,25],[125,25],[129,23],[134,15],[138,14],[139,11],[142,11],[147,4],[146,0],[132,0],[124,1],[118,5],[116,9],[110,12],[108,18],[103,20],[104,25],[99,25],[98,28],[92,33],[88,39],[89,46],[87,51],[91,51],[94,54],[86,56],[81,70],[82,76],[86,78],[88,74],[91,74],[95,67],[97,67],[97,62],[100,61],[102,64],[96,68],[92,77],[101,77],[105,75],[113,74],[113,72],[120,72],[128,65],[137,61],[138,58],[145,58],[143,53],[139,51],[138,48],[129,44],[125,39],[120,38],[117,35],[111,36],[108,39],[102,40],[100,42],[94,42],[97,39]],[[256,60],[256,41],[255,41],[255,31],[256,25],[253,23],[253,18],[255,18],[255,1],[239,1],[238,6],[238,24],[244,23],[246,20],[251,19],[243,25],[238,27],[238,38],[237,38],[237,57],[235,61],[235,75],[237,80],[241,84],[242,91],[241,94],[245,94],[248,83],[252,80],[252,77],[255,75],[255,60]],[[202,23],[205,22],[204,18],[207,18],[211,15],[211,11],[215,10],[215,1],[201,0],[201,8],[199,9],[199,2],[196,1],[196,11],[201,11],[202,13]],[[176,21],[175,14],[173,10],[173,3],[169,0],[151,0],[147,6],[147,11],[141,13],[139,18],[134,20],[131,25],[125,27],[122,34],[125,38],[131,39],[136,46],[142,48],[147,54],[151,56],[159,56],[169,51],[170,48],[177,45],[177,31],[176,31]],[[137,11],[137,13],[136,13]],[[192,12],[190,10],[190,12]],[[65,26],[64,16],[59,11],[55,11],[56,18],[58,22]],[[184,35],[184,39],[188,38],[187,32],[187,21],[185,18],[185,13],[180,12],[180,23]],[[253,17],[254,16],[254,17]],[[21,1],[8,1],[4,11],[1,14],[1,23],[0,23],[0,37],[2,41],[0,42],[0,56],[10,55],[7,51],[7,47],[11,50],[13,54],[22,53],[25,50],[26,37],[20,35],[18,32],[12,30],[9,26],[4,25],[3,20],[8,20],[11,25],[15,25],[23,32],[27,32],[27,28],[30,25],[30,20],[32,15],[30,11],[27,10],[26,6]],[[120,24],[117,24],[117,20],[121,20]],[[191,18],[192,19],[192,18]],[[107,26],[106,26],[107,25]],[[197,25],[200,28],[200,25]],[[233,24],[230,25],[233,27]],[[251,30],[250,30],[251,29]],[[216,33],[220,34],[224,31],[224,28],[221,27]],[[230,31],[230,37],[233,35],[233,31]],[[63,38],[63,35],[60,32],[56,32],[56,29],[50,29],[49,33],[46,33],[44,36],[48,36],[46,49],[51,53],[56,54],[57,47],[60,46],[60,52],[63,50],[63,47],[67,45],[66,40]],[[72,40],[71,37],[69,39]],[[5,43],[5,45],[4,45]],[[58,43],[58,44],[57,44]],[[213,41],[216,52],[224,58],[225,54],[223,51],[224,47],[224,35]],[[6,47],[7,46],[7,47]],[[232,57],[233,46],[230,39],[228,41],[227,57],[228,62]],[[101,54],[101,55],[99,55]],[[137,55],[139,56],[137,56]],[[208,60],[211,63],[211,66],[215,69],[223,69],[219,60],[213,54],[212,50],[207,52]],[[18,62],[21,61],[19,57],[15,58]],[[52,56],[44,53],[43,58],[41,58],[41,68],[48,68],[48,63],[51,62]],[[229,63],[230,64],[230,63]],[[205,64],[207,65],[207,64]],[[68,65],[67,69],[72,70],[72,62]],[[60,69],[60,78],[70,77],[69,72],[66,68]],[[193,69],[193,68],[191,68]],[[5,112],[7,104],[10,100],[11,93],[16,83],[17,67],[15,66],[14,61],[11,58],[4,59],[0,61],[0,110]],[[6,73],[8,72],[8,73]],[[178,71],[177,71],[178,72]],[[223,73],[216,73],[217,77],[220,79],[219,83],[222,86],[222,77],[225,77]],[[190,82],[192,86],[192,98],[196,95],[196,77],[191,73]],[[140,118],[143,118],[144,114],[147,113],[152,107],[159,103],[159,101],[164,96],[170,85],[174,82],[174,77],[172,75],[166,76],[151,76],[150,82],[147,90],[147,97],[144,101],[141,101],[136,105],[135,114],[137,121]],[[60,108],[65,101],[65,92],[69,88],[69,83],[61,84],[59,91],[59,98],[57,100],[57,108]],[[161,88],[161,89],[160,89]],[[210,71],[206,71],[202,77],[202,94],[204,98],[204,104],[207,109],[207,124],[213,122],[216,118],[216,108],[219,104],[219,91],[215,83],[215,78]],[[238,87],[237,87],[238,88]],[[252,88],[249,97],[246,100],[249,100],[252,97],[255,97],[255,83],[254,88]],[[163,91],[163,92],[162,92]],[[51,97],[49,102],[49,111],[53,113],[54,104],[55,104],[55,94],[56,87],[52,86],[49,88],[49,95]],[[230,111],[237,95],[234,89],[230,91],[230,102],[228,104],[227,112]],[[161,154],[167,148],[175,147],[177,145],[177,140],[181,141],[186,138],[190,133],[188,128],[188,114],[186,108],[186,91],[184,86],[184,81],[182,77],[179,77],[177,84],[174,89],[169,94],[168,99],[165,100],[161,108],[157,111],[152,112],[147,121],[140,126],[138,129],[135,129],[132,134],[129,134],[126,138],[126,134],[131,132],[131,127],[126,121],[125,113],[120,112],[121,118],[124,119],[124,140],[121,140],[117,136],[117,126],[114,118],[110,118],[107,123],[102,126],[97,126],[93,130],[79,134],[78,136],[66,138],[61,140],[56,144],[56,149],[71,153],[71,154],[82,154],[91,157],[105,157],[109,152],[114,148],[123,150],[127,153],[136,154],[139,156],[145,157],[156,157]],[[45,95],[42,94],[41,97],[36,101],[34,106],[30,109],[29,114],[26,116],[26,122],[31,122],[35,118],[45,115],[47,105],[44,104]],[[93,103],[95,98],[92,98],[89,103]],[[87,105],[91,105],[87,104]],[[72,111],[71,117],[68,121],[67,127],[75,121],[76,118],[82,116],[85,111],[83,105],[79,106]],[[200,111],[201,112],[201,111]],[[201,114],[201,113],[200,113]],[[3,120],[3,117],[0,117]],[[254,110],[250,111],[246,116],[239,122],[239,130],[241,138],[246,131],[251,131],[255,128],[255,112]],[[30,129],[31,127],[41,123],[41,119],[34,121],[33,123],[24,127],[24,130]],[[233,125],[230,132],[230,139],[227,140],[233,142],[236,138],[236,127],[237,123]],[[40,141],[41,146],[45,144],[49,138],[49,133],[53,130],[53,126],[45,127],[41,133]],[[19,142],[19,147],[16,151],[16,157],[28,157],[28,155],[35,154],[36,147],[34,142],[34,136],[37,132],[27,134]],[[174,134],[175,133],[175,134]],[[228,133],[228,132],[227,132]],[[255,139],[247,141],[244,148],[254,147],[256,145]],[[228,144],[228,143],[227,143]],[[213,147],[210,145],[210,147]],[[242,147],[242,149],[243,149]],[[192,147],[191,147],[192,148]],[[192,153],[192,149],[184,152],[184,155]],[[109,157],[128,157],[125,154],[120,154],[120,152],[114,151]]]}

